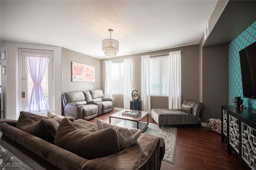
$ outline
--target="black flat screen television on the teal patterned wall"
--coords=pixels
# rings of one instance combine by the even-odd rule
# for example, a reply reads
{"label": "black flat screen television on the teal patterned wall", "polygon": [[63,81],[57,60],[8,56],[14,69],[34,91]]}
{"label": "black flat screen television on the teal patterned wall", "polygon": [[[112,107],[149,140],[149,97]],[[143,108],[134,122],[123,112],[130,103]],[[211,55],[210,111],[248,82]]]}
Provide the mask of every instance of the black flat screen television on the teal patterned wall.
{"label": "black flat screen television on the teal patterned wall", "polygon": [[239,51],[244,97],[256,99],[256,42]]}

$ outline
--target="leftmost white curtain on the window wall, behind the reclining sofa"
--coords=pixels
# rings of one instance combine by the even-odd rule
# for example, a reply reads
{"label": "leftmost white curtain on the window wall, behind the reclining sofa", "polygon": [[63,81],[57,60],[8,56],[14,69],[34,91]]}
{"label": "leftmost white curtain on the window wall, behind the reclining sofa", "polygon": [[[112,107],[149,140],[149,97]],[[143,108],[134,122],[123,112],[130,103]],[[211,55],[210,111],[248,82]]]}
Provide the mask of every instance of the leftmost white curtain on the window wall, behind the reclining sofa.
{"label": "leftmost white curtain on the window wall, behind the reclining sofa", "polygon": [[112,61],[105,61],[104,95],[106,97],[112,97]]}

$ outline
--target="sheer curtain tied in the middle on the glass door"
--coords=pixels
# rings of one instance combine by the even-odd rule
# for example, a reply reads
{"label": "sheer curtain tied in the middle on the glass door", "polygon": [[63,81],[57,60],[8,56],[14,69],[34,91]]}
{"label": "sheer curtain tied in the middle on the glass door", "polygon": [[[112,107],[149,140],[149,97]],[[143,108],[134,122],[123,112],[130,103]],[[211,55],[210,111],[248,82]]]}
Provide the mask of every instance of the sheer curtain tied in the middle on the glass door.
{"label": "sheer curtain tied in the middle on the glass door", "polygon": [[49,61],[49,57],[42,55],[27,55],[26,63],[32,81],[34,83],[28,107],[28,112],[45,112],[49,111],[48,103],[44,95],[44,90],[41,83],[44,78],[44,73]]}

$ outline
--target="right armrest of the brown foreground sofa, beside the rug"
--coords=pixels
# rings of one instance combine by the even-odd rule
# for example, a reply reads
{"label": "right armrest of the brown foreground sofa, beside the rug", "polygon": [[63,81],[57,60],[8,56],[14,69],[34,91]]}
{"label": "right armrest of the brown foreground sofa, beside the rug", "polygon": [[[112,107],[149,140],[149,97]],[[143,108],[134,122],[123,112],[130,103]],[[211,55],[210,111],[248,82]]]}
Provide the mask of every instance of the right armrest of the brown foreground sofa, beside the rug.
{"label": "right armrest of the brown foreground sofa, beside the rug", "polygon": [[160,152],[160,143],[160,137],[143,133],[132,146],[110,156],[89,160],[82,169],[102,170],[102,165],[104,165],[104,170],[160,170],[161,158],[163,157],[160,154],[164,154]]}

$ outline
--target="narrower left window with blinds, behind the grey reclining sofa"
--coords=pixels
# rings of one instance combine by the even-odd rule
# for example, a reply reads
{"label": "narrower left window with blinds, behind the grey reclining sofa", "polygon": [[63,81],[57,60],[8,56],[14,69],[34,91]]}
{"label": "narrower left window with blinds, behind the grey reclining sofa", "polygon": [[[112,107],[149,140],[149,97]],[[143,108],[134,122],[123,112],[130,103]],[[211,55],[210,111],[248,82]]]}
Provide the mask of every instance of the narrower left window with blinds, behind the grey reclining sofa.
{"label": "narrower left window with blinds, behind the grey reclining sofa", "polygon": [[124,61],[112,63],[112,93],[124,93]]}

